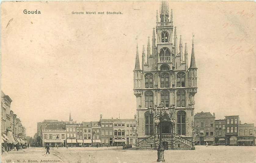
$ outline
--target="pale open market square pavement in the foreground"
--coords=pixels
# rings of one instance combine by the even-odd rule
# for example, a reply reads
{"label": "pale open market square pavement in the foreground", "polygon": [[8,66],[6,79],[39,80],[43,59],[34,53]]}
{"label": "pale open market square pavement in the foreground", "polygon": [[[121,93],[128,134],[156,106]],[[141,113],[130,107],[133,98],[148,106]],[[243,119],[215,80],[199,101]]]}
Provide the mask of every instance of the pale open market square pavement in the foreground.
{"label": "pale open market square pavement in the foreground", "polygon": [[[121,147],[51,148],[46,155],[42,147],[10,151],[2,155],[2,163],[64,162],[64,163],[151,163],[156,150],[122,150]],[[256,147],[196,146],[196,150],[165,150],[167,163],[256,163]]]}

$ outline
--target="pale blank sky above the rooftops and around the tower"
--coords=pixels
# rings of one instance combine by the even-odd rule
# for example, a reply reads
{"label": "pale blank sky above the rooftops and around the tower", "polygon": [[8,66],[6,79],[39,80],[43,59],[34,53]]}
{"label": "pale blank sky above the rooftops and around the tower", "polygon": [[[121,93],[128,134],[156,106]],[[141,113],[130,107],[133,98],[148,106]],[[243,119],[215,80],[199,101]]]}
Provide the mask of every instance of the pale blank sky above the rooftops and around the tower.
{"label": "pale blank sky above the rooftops and around the tower", "polygon": [[[135,38],[141,62],[159,3],[2,2],[1,89],[13,100],[11,110],[27,136],[35,134],[37,122],[68,121],[70,112],[77,122],[98,121],[100,114],[133,118]],[[242,123],[256,124],[254,2],[171,1],[169,8],[188,43],[189,63],[195,34],[195,113],[240,115]]]}

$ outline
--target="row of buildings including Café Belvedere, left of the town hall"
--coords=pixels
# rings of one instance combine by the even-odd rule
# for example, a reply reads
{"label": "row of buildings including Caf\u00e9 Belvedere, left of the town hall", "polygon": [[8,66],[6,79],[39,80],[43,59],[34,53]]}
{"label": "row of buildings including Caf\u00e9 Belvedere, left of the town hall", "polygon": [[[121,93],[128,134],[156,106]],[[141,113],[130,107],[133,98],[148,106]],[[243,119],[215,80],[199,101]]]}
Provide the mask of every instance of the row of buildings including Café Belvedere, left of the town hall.
{"label": "row of buildings including Caf\u00e9 Belvedere, left of the town hall", "polygon": [[37,136],[42,146],[83,146],[103,143],[107,146],[136,143],[136,115],[134,119],[103,119],[77,123],[69,115],[69,121],[44,120],[37,123]]}

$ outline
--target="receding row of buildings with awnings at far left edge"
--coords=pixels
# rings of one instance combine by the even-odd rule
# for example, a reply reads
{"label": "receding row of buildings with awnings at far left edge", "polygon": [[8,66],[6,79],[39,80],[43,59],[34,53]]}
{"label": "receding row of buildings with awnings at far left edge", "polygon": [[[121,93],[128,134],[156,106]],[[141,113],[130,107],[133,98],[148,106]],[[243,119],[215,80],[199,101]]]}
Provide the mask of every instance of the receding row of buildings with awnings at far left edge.
{"label": "receding row of buildings with awnings at far left edge", "polygon": [[20,118],[11,110],[12,99],[1,91],[1,137],[2,147],[7,149],[16,144],[26,143],[26,129]]}

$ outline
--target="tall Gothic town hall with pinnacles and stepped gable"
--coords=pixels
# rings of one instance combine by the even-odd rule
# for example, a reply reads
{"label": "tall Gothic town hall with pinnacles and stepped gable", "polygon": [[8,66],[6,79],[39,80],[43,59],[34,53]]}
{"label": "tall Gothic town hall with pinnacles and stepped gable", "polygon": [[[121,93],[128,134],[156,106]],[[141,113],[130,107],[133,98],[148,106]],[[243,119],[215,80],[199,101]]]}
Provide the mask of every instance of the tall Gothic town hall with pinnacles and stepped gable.
{"label": "tall Gothic town hall with pinnacles and stepped gable", "polygon": [[[162,138],[167,148],[191,149],[194,124],[194,96],[197,92],[197,67],[194,43],[188,67],[187,43],[179,44],[177,28],[173,26],[173,11],[166,1],[161,2],[160,21],[152,32],[152,46],[148,37],[147,54],[143,46],[142,67],[138,45],[134,73],[134,95],[137,109],[137,148],[157,149],[160,122],[148,113],[148,107],[161,103],[166,109],[175,105],[174,123],[162,121]],[[140,68],[141,67],[141,68]],[[169,148],[170,149],[170,148]]]}

